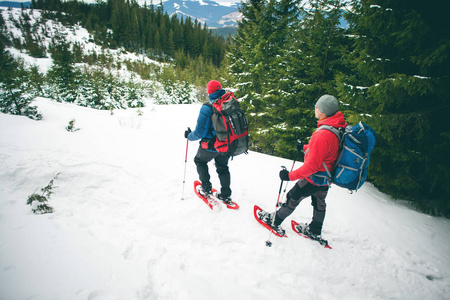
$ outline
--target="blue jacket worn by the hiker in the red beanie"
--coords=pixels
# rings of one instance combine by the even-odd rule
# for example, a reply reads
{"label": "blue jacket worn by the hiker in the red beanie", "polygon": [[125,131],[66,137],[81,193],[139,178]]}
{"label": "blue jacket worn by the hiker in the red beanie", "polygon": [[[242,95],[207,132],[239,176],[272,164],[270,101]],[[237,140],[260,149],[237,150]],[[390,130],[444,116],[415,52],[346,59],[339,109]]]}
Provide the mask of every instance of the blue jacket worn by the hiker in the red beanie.
{"label": "blue jacket worn by the hiker in the red beanie", "polygon": [[[218,90],[209,95],[209,102],[213,103],[215,100],[220,99],[224,94],[225,90]],[[188,139],[190,141],[196,141],[203,138],[211,139],[213,136],[216,136],[216,132],[211,124],[211,106],[202,105],[195,130],[189,133]]]}

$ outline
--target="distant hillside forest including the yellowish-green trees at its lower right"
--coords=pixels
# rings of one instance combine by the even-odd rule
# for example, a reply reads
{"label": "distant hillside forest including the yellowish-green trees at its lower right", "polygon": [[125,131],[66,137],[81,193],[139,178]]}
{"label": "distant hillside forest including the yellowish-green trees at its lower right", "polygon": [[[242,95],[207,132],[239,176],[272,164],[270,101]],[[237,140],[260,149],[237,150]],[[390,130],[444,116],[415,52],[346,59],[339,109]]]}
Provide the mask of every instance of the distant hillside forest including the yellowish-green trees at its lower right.
{"label": "distant hillside forest including the yellowish-green trees at its lower right", "polygon": [[211,76],[226,77],[221,67],[226,60],[227,39],[197,19],[169,16],[162,2],[33,0],[31,8],[42,9],[48,18],[68,25],[80,23],[94,42],[106,49],[121,48],[170,62],[162,75],[166,84],[203,86]]}

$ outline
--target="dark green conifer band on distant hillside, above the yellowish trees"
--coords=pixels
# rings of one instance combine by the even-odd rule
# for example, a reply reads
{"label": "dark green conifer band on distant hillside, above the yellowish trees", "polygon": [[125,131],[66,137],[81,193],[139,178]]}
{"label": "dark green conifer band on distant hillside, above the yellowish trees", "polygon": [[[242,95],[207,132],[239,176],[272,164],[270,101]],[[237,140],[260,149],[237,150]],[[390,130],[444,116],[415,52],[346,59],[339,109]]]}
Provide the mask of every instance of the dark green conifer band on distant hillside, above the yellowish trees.
{"label": "dark green conifer band on distant hillside, above the yellowish trees", "polygon": [[131,52],[169,59],[180,53],[191,58],[202,56],[217,67],[226,52],[224,37],[213,34],[197,19],[169,16],[163,3],[141,6],[135,0],[98,1],[96,4],[32,0],[31,8],[65,13],[68,22],[80,22],[94,34],[96,43],[111,49],[123,47]]}

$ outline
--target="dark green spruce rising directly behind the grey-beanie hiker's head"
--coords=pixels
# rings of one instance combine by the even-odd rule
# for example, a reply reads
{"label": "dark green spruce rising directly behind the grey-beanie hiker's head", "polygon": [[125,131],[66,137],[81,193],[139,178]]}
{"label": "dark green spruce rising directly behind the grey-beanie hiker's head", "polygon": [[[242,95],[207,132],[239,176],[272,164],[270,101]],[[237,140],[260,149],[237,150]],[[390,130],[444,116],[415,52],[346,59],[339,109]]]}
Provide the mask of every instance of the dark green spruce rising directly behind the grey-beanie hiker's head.
{"label": "dark green spruce rising directly behind the grey-beanie hiker's head", "polygon": [[336,95],[335,76],[345,68],[348,41],[341,26],[346,1],[310,0],[301,7],[300,23],[286,52],[282,153],[295,153],[295,138],[307,142],[317,128],[314,104],[323,94]]}

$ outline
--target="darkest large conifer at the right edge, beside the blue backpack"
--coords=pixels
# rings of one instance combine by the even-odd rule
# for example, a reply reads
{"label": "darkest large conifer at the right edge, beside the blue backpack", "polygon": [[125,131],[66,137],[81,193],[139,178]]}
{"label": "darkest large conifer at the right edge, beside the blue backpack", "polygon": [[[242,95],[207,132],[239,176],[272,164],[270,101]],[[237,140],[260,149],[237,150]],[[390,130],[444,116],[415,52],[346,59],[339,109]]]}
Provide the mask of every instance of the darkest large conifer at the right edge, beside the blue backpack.
{"label": "darkest large conifer at the right edge, beside the blue backpack", "polygon": [[450,24],[435,7],[354,1],[351,72],[339,76],[338,86],[340,99],[366,114],[378,133],[374,184],[450,215],[450,131],[442,115],[449,108]]}

